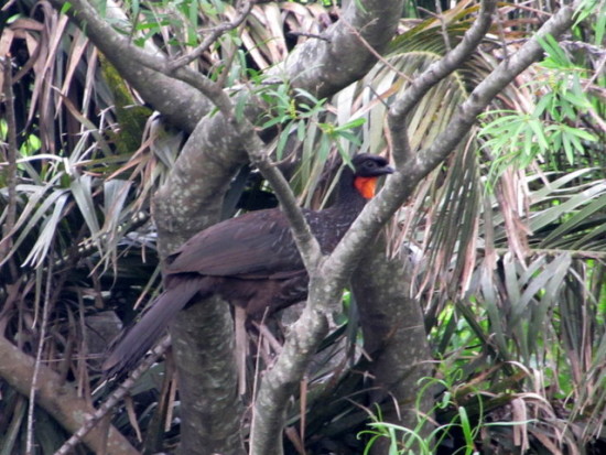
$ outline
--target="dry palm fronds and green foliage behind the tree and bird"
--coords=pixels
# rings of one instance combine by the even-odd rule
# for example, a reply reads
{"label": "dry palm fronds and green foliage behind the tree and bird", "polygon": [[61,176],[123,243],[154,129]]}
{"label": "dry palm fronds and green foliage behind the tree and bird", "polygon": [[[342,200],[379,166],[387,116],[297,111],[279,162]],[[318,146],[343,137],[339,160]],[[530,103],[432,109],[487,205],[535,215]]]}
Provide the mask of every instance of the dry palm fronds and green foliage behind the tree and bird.
{"label": "dry palm fronds and green foliage behind the tree and bird", "polygon": [[[136,43],[175,56],[199,44],[201,28],[237,14],[221,2],[127,2],[125,15],[107,6],[107,17]],[[338,8],[329,4],[256,4],[241,26],[190,66],[228,89],[255,87],[270,107],[259,126],[278,129],[278,159],[296,152],[296,167],[284,165],[285,173],[301,203],[317,207],[326,193],[316,189],[329,186],[322,170],[336,154],[389,153],[386,104],[456,44],[477,9],[472,1],[443,11],[424,6],[437,14],[431,15],[415,7],[407,4],[385,61],[326,101],[293,95],[285,82],[268,85],[280,75],[263,71],[334,21]],[[583,453],[603,444],[604,2],[587,2],[583,11],[571,35],[545,42],[543,62],[502,93],[459,150],[419,185],[387,235],[391,257],[409,266],[408,292],[424,312],[437,360],[423,390],[443,400],[439,422],[459,429],[444,447]],[[552,12],[542,4],[501,6],[474,57],[415,106],[413,149],[430,143],[470,89]],[[116,315],[128,323],[132,303],[142,306],[158,292],[150,197],[193,127],[184,121],[177,130],[153,113],[48,3],[11,2],[2,23],[0,55],[10,53],[12,61],[2,73],[0,327],[98,402],[106,393],[96,390],[98,359]],[[18,151],[13,159],[11,150]],[[259,204],[273,204],[271,195],[259,175],[242,171],[224,217]],[[302,444],[312,453],[356,444],[351,435],[365,427],[364,410],[336,407],[342,394],[349,397],[346,387],[324,390],[326,378],[348,383],[348,369],[328,360],[360,337],[351,313],[336,319],[349,325],[327,339],[332,354],[318,361],[310,387],[321,397],[333,393],[338,412],[312,412],[309,430],[290,435],[293,453]],[[113,422],[149,447],[178,440],[174,377],[160,376],[163,368],[154,366],[138,382],[127,405],[132,412],[118,412]],[[40,408],[29,416],[28,400],[6,382],[0,387],[6,453],[22,451],[26,434],[41,453],[54,452],[64,431]],[[164,400],[173,411],[158,404]],[[291,427],[299,414],[293,410]],[[162,426],[164,441],[152,440]]]}

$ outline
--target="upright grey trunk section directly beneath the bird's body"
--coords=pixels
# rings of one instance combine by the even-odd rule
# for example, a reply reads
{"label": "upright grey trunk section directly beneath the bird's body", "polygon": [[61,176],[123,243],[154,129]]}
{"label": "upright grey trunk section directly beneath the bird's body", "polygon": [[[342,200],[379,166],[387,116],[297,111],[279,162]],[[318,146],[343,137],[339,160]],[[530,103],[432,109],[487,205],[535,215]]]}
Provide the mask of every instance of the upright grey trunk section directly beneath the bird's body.
{"label": "upright grey trunk section directly beneath the bird's body", "polygon": [[245,454],[227,304],[208,299],[192,305],[177,315],[171,333],[182,397],[180,454]]}

